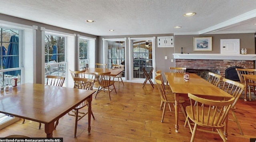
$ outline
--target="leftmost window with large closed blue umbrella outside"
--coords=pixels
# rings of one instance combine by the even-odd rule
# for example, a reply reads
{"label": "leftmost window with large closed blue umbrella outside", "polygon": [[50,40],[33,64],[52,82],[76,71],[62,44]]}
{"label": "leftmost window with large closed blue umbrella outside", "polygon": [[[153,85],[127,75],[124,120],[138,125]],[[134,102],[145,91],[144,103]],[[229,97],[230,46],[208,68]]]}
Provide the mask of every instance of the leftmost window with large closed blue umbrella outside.
{"label": "leftmost window with large closed blue umbrella outside", "polygon": [[18,78],[22,66],[22,30],[0,28],[0,86],[11,85],[12,78]]}

